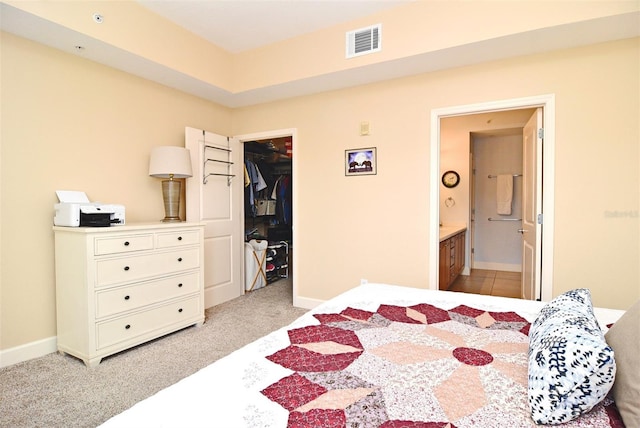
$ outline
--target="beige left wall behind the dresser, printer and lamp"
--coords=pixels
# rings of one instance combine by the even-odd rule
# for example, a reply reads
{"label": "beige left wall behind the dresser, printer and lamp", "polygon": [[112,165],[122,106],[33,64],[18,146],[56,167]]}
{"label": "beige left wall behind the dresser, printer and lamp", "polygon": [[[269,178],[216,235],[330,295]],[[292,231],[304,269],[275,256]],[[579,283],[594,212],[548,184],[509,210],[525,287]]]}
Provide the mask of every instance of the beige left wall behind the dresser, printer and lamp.
{"label": "beige left wall behind the dresser, printer and lamp", "polygon": [[184,127],[231,132],[231,111],[97,63],[1,33],[0,349],[55,336],[55,191],[164,217],[155,145]]}

